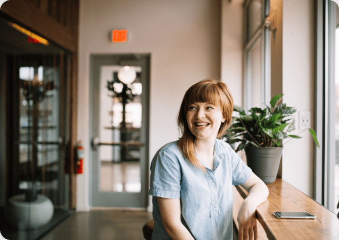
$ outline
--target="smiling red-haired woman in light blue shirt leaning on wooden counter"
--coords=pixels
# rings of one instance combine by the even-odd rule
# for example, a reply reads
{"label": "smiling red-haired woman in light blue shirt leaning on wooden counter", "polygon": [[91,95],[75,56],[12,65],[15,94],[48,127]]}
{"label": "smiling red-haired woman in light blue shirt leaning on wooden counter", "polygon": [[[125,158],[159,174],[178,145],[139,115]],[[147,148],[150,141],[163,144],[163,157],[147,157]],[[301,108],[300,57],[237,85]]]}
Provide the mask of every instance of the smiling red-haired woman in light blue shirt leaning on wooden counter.
{"label": "smiling red-haired woman in light blue shirt leaning on wooden counter", "polygon": [[239,239],[257,237],[256,207],[266,185],[227,143],[233,98],[223,82],[208,79],[187,90],[178,114],[180,140],[163,146],[151,164],[152,239],[231,239],[232,185],[250,193],[239,214]]}

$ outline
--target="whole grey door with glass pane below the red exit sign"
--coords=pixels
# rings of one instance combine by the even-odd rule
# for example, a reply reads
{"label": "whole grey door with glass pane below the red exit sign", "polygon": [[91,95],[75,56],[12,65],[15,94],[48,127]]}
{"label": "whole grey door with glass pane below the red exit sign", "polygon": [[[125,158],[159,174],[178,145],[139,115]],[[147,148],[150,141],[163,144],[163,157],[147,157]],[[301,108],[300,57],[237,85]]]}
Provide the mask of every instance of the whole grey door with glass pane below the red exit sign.
{"label": "whole grey door with glass pane below the red exit sign", "polygon": [[147,54],[91,55],[90,204],[147,207]]}

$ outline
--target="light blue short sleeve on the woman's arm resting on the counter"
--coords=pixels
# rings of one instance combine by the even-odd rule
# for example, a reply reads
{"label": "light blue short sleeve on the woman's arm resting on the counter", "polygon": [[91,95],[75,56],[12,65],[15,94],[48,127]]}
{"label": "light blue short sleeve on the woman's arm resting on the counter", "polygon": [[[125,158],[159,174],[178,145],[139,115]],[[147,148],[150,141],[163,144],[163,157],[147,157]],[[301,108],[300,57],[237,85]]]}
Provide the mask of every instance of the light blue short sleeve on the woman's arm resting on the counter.
{"label": "light blue short sleeve on the woman's arm resting on the counter", "polygon": [[245,183],[252,174],[252,169],[249,168],[239,155],[231,149],[232,155],[232,184],[240,185]]}

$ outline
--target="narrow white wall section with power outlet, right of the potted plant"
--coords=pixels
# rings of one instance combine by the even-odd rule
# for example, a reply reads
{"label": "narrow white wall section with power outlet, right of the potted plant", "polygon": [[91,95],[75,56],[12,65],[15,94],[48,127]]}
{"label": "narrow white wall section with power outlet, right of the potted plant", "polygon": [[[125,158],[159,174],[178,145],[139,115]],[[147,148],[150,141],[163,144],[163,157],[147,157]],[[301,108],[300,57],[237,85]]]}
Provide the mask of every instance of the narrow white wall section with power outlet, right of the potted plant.
{"label": "narrow white wall section with power outlet, right of the potted plant", "polygon": [[[311,111],[314,128],[314,1],[283,1],[282,92],[283,102],[299,111]],[[299,133],[298,112],[296,131]],[[301,133],[284,146],[282,178],[312,197],[313,139],[310,132]],[[286,140],[284,143],[287,142]]]}

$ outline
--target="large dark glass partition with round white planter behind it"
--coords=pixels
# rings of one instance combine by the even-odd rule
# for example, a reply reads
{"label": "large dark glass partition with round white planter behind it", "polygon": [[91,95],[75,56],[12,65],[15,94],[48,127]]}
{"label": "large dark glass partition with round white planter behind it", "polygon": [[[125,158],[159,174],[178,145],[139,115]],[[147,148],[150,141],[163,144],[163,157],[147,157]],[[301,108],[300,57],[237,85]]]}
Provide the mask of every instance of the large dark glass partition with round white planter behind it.
{"label": "large dark glass partition with round white planter behind it", "polygon": [[[6,239],[39,238],[69,216],[64,173],[70,54],[23,26],[0,18],[2,104],[6,110]],[[4,124],[5,123],[5,124]],[[2,212],[1,212],[2,214]]]}

